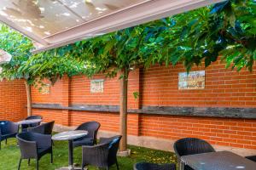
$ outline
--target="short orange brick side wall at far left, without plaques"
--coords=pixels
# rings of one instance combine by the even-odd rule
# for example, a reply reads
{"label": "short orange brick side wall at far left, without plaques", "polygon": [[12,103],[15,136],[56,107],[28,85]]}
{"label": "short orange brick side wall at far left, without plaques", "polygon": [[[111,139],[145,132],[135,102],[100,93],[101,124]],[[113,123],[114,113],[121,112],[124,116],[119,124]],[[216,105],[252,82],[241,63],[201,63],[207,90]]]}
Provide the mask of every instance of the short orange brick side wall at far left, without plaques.
{"label": "short orange brick side wall at far left, without plaques", "polygon": [[22,80],[0,82],[0,120],[13,122],[26,117],[26,88]]}

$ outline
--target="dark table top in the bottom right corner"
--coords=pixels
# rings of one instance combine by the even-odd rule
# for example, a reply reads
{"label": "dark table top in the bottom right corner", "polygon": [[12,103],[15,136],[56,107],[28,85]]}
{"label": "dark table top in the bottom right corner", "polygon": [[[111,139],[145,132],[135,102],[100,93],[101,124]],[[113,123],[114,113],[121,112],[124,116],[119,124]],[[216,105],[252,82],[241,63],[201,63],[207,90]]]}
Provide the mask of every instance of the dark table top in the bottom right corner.
{"label": "dark table top in the bottom right corner", "polygon": [[256,162],[230,151],[181,156],[180,169],[183,169],[184,165],[189,165],[195,170],[256,170]]}

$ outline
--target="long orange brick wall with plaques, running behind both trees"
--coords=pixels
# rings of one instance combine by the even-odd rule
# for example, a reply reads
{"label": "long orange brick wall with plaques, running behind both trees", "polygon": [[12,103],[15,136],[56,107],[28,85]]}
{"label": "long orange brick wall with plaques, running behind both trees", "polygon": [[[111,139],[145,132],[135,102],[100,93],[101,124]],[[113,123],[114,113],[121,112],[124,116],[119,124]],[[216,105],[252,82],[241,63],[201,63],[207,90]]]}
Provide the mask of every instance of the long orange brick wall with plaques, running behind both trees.
{"label": "long orange brick wall with plaques, running behind both trees", "polygon": [[[202,70],[202,68],[195,68]],[[178,90],[177,75],[183,66],[154,65],[147,71],[136,70],[129,77],[128,107],[190,106],[256,108],[256,67],[253,72],[230,71],[220,61],[206,69],[206,88]],[[62,79],[51,88],[50,94],[33,90],[33,103],[61,105],[119,105],[118,78],[104,79],[104,93],[90,94],[90,79],[79,76]],[[65,80],[65,81],[64,81]],[[64,81],[64,82],[63,82]],[[61,85],[62,84],[62,85]],[[63,85],[68,84],[68,85]],[[140,98],[134,99],[133,92]],[[45,120],[77,126],[82,122],[97,121],[101,129],[119,131],[119,114],[99,111],[34,110]],[[255,113],[256,114],[256,113]],[[203,116],[165,116],[132,113],[128,116],[128,133],[161,139],[197,137],[212,144],[256,150],[256,119],[234,119]]]}

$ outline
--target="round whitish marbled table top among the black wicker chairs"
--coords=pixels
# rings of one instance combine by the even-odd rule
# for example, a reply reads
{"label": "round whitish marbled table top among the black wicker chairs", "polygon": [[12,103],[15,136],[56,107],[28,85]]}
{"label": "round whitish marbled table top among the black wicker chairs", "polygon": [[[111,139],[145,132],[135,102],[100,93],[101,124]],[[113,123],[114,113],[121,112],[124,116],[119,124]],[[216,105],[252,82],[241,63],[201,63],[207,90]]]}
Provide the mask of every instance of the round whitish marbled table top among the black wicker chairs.
{"label": "round whitish marbled table top among the black wicker chairs", "polygon": [[67,131],[63,133],[57,133],[52,136],[51,139],[53,140],[71,140],[71,139],[79,139],[81,137],[84,137],[88,134],[85,130],[73,130],[73,131]]}

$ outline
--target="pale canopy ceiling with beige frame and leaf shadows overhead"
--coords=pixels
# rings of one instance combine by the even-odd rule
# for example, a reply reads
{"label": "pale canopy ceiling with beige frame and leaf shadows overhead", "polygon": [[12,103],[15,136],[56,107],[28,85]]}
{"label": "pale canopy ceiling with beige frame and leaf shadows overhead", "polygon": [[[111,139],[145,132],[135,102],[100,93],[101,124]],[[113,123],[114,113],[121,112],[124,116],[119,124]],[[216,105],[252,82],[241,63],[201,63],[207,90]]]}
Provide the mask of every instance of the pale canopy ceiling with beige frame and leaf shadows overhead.
{"label": "pale canopy ceiling with beige frame and leaf shadows overhead", "polygon": [[1,0],[0,20],[32,38],[38,53],[222,1]]}

